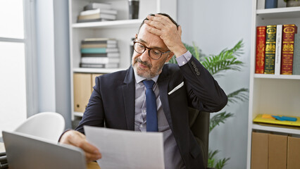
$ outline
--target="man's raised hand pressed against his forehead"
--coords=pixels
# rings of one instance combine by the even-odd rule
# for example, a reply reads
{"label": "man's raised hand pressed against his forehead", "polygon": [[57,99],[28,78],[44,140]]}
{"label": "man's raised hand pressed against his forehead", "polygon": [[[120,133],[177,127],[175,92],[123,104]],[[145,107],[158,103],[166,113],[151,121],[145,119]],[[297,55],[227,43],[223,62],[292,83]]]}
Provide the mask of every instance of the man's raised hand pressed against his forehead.
{"label": "man's raised hand pressed against his forehead", "polygon": [[181,41],[181,26],[177,27],[170,18],[165,15],[148,15],[147,18],[149,20],[144,21],[147,25],[146,30],[161,37],[165,45],[168,46],[168,49],[170,49],[176,57],[187,52],[187,49]]}

